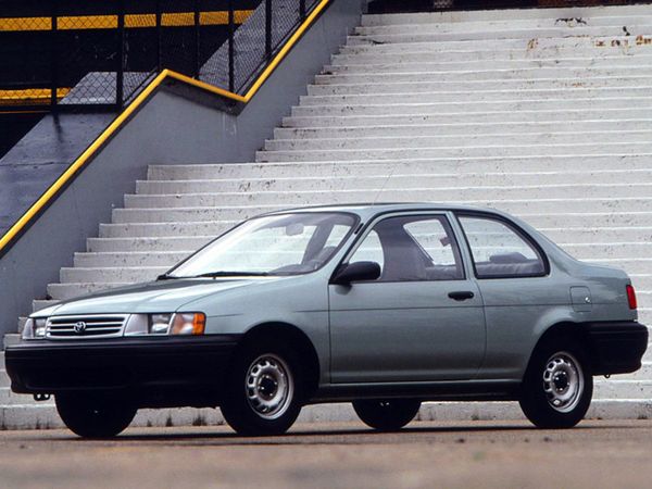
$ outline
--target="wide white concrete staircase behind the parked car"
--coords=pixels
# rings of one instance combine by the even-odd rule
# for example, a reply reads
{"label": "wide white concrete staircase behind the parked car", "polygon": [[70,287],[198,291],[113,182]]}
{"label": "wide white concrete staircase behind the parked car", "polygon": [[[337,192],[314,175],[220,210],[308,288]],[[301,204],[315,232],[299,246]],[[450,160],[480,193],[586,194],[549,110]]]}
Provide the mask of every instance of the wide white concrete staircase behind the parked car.
{"label": "wide white concrete staircase behind the parked car", "polygon": [[[625,268],[652,324],[652,5],[365,16],[255,163],[151,166],[34,306],[152,279],[261,212],[376,199],[518,215],[573,255]],[[636,374],[597,379],[594,399],[592,416],[652,416],[652,352]],[[11,394],[2,372],[0,404],[4,426],[60,423],[51,403]],[[352,416],[311,410],[304,418]],[[517,415],[513,403],[422,411]]]}

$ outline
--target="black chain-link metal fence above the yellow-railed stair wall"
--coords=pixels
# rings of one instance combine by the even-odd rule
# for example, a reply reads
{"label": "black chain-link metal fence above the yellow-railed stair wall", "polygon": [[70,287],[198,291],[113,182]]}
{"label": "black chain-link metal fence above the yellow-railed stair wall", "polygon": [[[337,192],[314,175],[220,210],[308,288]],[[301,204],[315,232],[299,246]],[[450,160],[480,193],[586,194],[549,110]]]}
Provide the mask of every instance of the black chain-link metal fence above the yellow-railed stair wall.
{"label": "black chain-link metal fence above the yellow-railed stair wall", "polygon": [[4,0],[0,110],[121,110],[163,68],[243,93],[317,2]]}

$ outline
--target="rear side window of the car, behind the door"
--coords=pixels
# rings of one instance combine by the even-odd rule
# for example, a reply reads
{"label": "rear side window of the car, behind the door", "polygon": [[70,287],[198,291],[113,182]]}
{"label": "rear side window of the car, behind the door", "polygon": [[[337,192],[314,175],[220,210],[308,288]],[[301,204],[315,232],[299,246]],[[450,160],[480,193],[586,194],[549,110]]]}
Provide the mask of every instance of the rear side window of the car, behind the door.
{"label": "rear side window of the car, behind the door", "polygon": [[478,278],[532,277],[546,274],[537,248],[503,221],[459,216]]}

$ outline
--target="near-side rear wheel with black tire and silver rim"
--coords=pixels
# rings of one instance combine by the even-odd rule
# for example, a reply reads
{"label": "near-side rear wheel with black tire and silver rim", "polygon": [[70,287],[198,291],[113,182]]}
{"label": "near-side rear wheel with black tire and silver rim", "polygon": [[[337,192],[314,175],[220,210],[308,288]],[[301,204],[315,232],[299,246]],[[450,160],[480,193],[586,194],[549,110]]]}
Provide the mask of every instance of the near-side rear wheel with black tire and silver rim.
{"label": "near-side rear wheel with black tire and silver rim", "polygon": [[535,350],[525,374],[521,409],[538,428],[572,428],[591,404],[591,364],[577,341],[544,340]]}

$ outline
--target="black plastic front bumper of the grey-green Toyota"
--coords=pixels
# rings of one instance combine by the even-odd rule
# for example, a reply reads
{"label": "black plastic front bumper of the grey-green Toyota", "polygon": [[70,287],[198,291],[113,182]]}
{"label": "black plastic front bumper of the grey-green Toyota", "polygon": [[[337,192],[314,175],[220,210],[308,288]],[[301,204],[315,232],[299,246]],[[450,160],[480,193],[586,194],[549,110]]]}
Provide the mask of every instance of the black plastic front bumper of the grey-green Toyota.
{"label": "black plastic front bumper of the grey-green Toyota", "polygon": [[[11,388],[18,393],[70,390],[131,391],[142,404],[165,404],[190,392],[217,391],[240,335],[23,341],[5,350]],[[188,405],[188,404],[186,404]]]}

